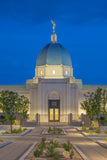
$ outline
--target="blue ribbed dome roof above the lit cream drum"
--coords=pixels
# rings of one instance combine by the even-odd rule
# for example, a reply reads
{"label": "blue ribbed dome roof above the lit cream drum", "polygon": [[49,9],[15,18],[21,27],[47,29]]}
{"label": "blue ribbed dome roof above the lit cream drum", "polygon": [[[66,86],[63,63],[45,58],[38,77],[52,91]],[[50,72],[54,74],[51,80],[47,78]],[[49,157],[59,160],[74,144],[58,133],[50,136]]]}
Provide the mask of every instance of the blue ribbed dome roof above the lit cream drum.
{"label": "blue ribbed dome roof above the lit cream drum", "polygon": [[52,42],[41,50],[37,58],[37,66],[46,64],[72,66],[68,51],[61,44]]}

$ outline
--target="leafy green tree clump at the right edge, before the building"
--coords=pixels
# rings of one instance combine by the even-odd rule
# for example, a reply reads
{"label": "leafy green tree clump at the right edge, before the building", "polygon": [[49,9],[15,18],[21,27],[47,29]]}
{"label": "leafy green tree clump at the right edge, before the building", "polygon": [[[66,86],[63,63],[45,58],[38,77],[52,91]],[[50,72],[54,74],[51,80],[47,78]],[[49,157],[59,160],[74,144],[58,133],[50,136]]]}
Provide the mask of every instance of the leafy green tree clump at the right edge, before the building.
{"label": "leafy green tree clump at the right edge, before the building", "polygon": [[92,121],[96,117],[100,127],[100,115],[107,113],[107,91],[102,88],[97,88],[95,92],[88,92],[84,95],[85,100],[81,102],[81,108],[86,111],[87,116]]}

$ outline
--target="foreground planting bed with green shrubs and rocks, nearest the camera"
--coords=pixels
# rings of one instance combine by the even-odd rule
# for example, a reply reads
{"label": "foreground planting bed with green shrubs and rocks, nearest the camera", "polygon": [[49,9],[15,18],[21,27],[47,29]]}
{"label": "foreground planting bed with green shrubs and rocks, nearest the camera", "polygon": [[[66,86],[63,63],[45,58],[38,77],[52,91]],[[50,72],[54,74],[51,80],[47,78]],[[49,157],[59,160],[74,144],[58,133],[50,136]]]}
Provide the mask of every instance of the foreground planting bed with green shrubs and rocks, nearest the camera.
{"label": "foreground planting bed with green shrubs and rocks, nearest the camera", "polygon": [[55,139],[46,140],[46,138],[42,138],[41,142],[37,143],[25,160],[39,160],[39,158],[44,160],[82,160],[69,141],[59,143]]}

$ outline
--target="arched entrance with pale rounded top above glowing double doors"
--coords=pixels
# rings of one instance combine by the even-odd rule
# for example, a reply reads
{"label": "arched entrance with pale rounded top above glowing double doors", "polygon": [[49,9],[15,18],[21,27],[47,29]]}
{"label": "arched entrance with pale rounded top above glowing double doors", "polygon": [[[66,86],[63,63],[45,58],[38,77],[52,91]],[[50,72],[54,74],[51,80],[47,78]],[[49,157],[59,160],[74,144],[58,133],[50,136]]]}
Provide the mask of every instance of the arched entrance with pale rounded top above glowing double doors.
{"label": "arched entrance with pale rounded top above glowing double doors", "polygon": [[60,98],[56,92],[51,92],[48,97],[48,119],[49,122],[60,121]]}

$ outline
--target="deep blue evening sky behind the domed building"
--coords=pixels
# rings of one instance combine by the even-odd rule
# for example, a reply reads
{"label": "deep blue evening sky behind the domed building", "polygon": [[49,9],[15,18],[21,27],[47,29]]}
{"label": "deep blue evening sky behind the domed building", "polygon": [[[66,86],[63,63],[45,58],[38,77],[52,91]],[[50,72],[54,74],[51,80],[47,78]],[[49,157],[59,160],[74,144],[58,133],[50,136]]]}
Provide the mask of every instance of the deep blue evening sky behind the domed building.
{"label": "deep blue evening sky behind the domed building", "polygon": [[107,0],[0,0],[0,84],[25,84],[50,42],[70,53],[74,77],[107,84]]}

